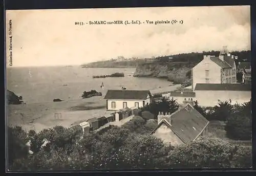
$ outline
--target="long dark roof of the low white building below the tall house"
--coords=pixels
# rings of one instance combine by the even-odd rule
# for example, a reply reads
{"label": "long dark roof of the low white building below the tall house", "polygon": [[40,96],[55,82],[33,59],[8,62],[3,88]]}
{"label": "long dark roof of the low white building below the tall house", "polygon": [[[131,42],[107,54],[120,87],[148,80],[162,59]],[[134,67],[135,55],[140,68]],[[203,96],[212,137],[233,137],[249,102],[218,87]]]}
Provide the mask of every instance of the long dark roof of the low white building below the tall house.
{"label": "long dark roof of the low white building below the tall house", "polygon": [[251,91],[247,84],[197,83],[195,91]]}

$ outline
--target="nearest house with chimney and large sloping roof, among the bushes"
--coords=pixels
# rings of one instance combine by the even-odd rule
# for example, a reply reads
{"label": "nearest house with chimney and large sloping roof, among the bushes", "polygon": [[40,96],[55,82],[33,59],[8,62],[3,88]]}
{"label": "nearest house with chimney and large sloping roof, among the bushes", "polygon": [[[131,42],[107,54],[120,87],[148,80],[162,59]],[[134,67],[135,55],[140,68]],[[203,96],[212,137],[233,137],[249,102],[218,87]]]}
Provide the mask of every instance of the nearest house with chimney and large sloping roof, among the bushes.
{"label": "nearest house with chimney and large sloping roof, among the bushes", "polygon": [[164,143],[180,145],[207,135],[209,121],[192,105],[186,104],[173,114],[159,113],[158,125],[151,135]]}

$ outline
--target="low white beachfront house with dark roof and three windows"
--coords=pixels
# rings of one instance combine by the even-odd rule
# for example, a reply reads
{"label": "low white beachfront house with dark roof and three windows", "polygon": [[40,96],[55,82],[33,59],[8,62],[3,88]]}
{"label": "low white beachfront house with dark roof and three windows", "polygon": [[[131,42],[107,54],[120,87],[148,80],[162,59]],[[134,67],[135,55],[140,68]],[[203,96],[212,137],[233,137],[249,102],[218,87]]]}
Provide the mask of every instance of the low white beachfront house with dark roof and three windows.
{"label": "low white beachfront house with dark roof and three windows", "polygon": [[150,91],[108,90],[104,99],[106,99],[106,109],[115,111],[125,107],[144,107],[151,103],[152,94]]}

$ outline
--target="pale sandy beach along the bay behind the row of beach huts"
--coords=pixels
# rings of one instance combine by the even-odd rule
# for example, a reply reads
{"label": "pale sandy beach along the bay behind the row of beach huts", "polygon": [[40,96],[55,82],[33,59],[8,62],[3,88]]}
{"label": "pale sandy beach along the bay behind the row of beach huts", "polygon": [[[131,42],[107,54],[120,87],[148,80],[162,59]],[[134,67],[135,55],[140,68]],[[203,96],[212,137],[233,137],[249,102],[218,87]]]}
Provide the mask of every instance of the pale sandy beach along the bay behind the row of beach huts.
{"label": "pale sandy beach along the bay behind the row of beach huts", "polygon": [[[151,90],[152,94],[174,91],[180,85],[159,87]],[[71,127],[73,123],[86,121],[105,113],[106,102],[104,97],[91,97],[87,99],[73,99],[62,102],[41,102],[7,106],[7,121],[9,126],[22,126],[27,131],[33,129],[40,131],[56,125]],[[82,110],[90,109],[90,110]],[[55,118],[58,114],[59,118]]]}

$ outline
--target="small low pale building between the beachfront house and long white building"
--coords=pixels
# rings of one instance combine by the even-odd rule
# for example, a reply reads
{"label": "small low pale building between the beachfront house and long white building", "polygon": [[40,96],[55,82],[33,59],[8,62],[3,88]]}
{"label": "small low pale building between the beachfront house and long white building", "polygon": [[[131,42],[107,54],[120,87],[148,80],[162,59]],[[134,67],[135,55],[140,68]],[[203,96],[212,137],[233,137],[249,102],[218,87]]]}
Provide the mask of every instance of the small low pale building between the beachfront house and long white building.
{"label": "small low pale building between the beachfront house and long white building", "polygon": [[195,92],[164,92],[162,97],[168,98],[169,100],[174,98],[177,100],[178,104],[186,104],[188,102],[193,102],[196,97]]}

